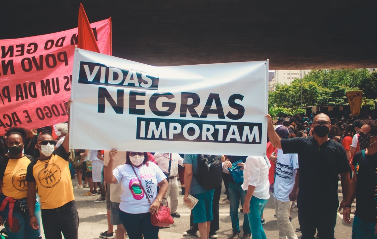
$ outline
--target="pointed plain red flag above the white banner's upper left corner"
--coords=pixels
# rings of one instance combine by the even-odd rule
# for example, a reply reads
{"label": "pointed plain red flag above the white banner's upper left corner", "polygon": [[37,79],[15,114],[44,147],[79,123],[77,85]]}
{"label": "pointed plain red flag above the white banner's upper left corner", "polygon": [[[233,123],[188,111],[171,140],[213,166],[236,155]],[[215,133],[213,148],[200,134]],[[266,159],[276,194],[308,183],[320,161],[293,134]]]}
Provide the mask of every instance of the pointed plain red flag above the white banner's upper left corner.
{"label": "pointed plain red flag above the white banner's upper left corner", "polygon": [[78,12],[78,44],[77,47],[84,50],[100,53],[97,42],[95,40],[89,20],[86,16],[84,6],[80,3],[80,10]]}

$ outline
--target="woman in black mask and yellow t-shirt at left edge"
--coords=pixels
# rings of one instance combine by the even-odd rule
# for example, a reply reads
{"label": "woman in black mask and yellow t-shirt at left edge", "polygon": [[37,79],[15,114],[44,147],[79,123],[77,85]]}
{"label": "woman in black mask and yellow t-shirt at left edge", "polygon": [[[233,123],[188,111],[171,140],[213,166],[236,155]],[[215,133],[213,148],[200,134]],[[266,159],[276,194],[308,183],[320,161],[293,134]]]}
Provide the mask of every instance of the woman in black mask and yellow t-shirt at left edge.
{"label": "woman in black mask and yellow t-shirt at left edge", "polygon": [[35,215],[35,220],[40,221],[39,202],[34,202],[32,214],[26,207],[26,169],[33,160],[30,155],[23,154],[27,133],[24,128],[9,128],[5,135],[9,152],[0,160],[0,224],[5,224],[10,239],[41,238],[40,229],[34,230],[29,226],[30,215]]}

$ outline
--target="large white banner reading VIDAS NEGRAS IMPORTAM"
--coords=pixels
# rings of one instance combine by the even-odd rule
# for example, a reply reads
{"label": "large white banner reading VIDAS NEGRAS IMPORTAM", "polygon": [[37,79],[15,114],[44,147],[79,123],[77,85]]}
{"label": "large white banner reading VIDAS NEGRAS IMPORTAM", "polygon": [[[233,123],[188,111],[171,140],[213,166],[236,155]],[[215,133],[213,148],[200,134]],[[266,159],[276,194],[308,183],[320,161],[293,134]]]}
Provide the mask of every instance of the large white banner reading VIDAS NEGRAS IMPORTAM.
{"label": "large white banner reading VIDAS NEGRAS IMPORTAM", "polygon": [[77,49],[70,147],[266,153],[268,61],[155,67]]}

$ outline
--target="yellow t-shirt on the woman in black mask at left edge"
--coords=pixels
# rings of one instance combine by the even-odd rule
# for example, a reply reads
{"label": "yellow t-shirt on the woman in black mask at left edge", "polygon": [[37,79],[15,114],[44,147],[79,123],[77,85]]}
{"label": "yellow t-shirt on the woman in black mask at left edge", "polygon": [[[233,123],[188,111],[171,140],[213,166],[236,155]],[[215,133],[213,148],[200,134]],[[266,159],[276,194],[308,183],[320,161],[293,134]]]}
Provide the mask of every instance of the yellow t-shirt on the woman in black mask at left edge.
{"label": "yellow t-shirt on the woman in black mask at left edge", "polygon": [[2,192],[13,199],[26,198],[28,183],[26,169],[33,158],[25,155],[22,158],[4,157],[0,161],[0,181],[3,181]]}

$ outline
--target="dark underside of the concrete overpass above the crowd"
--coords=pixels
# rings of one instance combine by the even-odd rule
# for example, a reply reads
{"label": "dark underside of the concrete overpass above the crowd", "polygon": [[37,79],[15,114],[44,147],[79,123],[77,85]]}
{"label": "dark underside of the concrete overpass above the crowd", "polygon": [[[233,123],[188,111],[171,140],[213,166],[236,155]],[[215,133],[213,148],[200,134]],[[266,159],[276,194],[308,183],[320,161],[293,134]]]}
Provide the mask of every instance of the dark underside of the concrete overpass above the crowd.
{"label": "dark underside of the concrete overpass above the crowd", "polygon": [[[270,59],[270,69],[377,66],[376,5],[365,1],[82,0],[112,17],[113,55],[151,65]],[[3,1],[1,39],[77,27],[80,2]]]}

